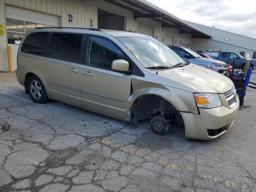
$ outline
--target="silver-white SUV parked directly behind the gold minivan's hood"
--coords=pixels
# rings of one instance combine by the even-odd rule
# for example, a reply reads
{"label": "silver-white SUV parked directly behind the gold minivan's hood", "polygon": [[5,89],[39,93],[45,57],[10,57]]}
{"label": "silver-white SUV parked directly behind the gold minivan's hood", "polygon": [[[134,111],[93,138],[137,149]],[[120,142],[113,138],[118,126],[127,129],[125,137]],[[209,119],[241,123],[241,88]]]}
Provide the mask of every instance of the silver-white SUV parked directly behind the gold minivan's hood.
{"label": "silver-white SUV parked directly behind the gold minivan's hood", "polygon": [[227,70],[228,70],[227,65],[222,61],[202,58],[196,52],[185,47],[179,47],[179,46],[168,46],[168,47],[171,50],[173,50],[176,54],[178,54],[181,58],[183,58],[185,61],[192,62],[194,64],[197,64],[197,65],[212,69],[221,74],[227,75]]}

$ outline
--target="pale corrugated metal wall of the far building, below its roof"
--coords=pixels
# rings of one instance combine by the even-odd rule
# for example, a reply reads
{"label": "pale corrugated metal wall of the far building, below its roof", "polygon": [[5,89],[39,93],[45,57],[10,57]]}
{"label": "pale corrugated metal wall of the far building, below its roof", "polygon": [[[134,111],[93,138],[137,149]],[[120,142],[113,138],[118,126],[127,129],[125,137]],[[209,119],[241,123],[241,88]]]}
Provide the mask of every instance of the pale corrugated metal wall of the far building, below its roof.
{"label": "pale corrugated metal wall of the far building, below its roof", "polygon": [[215,49],[215,50],[222,50],[222,51],[231,51],[231,52],[245,52],[250,54],[250,57],[253,56],[253,52],[256,52],[256,50],[250,50],[230,44],[226,44],[223,42],[219,42],[212,39],[201,39],[201,38],[194,38],[192,41],[192,50],[194,51],[202,51],[203,53],[207,49]]}

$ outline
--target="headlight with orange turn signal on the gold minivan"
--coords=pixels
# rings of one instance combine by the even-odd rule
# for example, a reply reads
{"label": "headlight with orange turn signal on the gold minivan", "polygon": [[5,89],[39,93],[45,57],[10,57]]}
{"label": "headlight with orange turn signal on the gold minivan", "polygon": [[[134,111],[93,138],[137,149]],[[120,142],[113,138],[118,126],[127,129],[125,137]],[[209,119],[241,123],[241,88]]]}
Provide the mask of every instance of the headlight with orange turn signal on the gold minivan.
{"label": "headlight with orange turn signal on the gold minivan", "polygon": [[198,108],[215,108],[222,106],[218,94],[194,93],[194,98]]}

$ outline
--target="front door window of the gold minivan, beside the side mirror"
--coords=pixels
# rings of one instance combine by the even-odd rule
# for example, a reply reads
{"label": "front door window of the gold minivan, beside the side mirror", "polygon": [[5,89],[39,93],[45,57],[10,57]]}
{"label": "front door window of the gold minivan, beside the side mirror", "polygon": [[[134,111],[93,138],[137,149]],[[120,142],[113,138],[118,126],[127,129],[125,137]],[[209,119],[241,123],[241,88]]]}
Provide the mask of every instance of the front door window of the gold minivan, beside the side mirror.
{"label": "front door window of the gold minivan, beside the side mirror", "polygon": [[127,60],[126,56],[112,42],[91,36],[88,44],[87,64],[111,69],[114,60]]}

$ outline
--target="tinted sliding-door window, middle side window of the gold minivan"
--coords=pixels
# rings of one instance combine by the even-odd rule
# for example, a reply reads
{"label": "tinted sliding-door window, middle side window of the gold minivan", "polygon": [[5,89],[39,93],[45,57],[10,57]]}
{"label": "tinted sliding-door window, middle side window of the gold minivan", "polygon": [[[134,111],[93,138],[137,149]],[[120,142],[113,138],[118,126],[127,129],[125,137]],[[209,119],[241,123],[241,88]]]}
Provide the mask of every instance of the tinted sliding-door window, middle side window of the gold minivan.
{"label": "tinted sliding-door window, middle side window of the gold minivan", "polygon": [[80,62],[82,34],[52,34],[49,57],[71,62]]}

